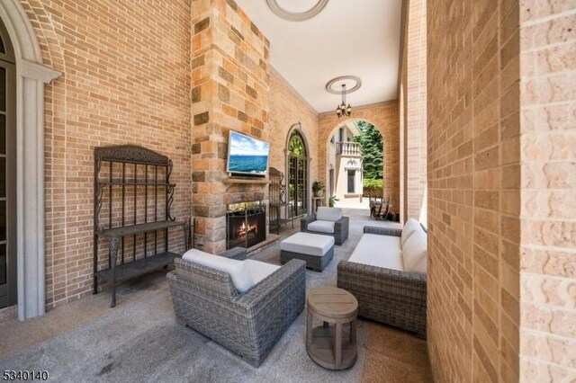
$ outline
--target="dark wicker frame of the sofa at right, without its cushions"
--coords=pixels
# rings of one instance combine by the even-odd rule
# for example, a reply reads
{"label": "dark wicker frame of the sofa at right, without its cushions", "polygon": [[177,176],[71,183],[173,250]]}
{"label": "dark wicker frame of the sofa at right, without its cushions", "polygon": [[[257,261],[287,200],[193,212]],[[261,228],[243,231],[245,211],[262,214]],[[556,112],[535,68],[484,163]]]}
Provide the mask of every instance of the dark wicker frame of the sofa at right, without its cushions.
{"label": "dark wicker frame of the sofa at right, without its cushions", "polygon": [[[365,233],[401,236],[401,229],[365,227]],[[358,299],[358,316],[415,332],[426,339],[426,274],[362,263],[338,263],[338,288]]]}

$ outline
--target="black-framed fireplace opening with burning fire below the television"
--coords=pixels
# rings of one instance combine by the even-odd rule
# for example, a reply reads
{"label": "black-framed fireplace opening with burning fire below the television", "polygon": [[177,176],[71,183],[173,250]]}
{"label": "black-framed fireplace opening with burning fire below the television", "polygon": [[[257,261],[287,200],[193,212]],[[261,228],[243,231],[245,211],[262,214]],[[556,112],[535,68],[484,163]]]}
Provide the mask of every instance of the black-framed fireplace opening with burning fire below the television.
{"label": "black-framed fireplace opening with burning fire below the television", "polygon": [[259,201],[228,205],[226,248],[252,247],[266,240],[266,205]]}

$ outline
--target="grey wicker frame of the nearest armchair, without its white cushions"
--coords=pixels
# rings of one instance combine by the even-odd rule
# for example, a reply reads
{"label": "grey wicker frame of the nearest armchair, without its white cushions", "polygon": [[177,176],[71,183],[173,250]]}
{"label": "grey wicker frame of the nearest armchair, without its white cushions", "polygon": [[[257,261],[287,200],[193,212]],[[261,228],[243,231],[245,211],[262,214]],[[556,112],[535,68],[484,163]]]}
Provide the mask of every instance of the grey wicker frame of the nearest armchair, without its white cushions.
{"label": "grey wicker frame of the nearest armchair, without its white cushions", "polygon": [[[221,254],[246,259],[246,250]],[[293,260],[238,293],[228,273],[175,259],[168,282],[176,320],[258,367],[304,308],[306,263]]]}

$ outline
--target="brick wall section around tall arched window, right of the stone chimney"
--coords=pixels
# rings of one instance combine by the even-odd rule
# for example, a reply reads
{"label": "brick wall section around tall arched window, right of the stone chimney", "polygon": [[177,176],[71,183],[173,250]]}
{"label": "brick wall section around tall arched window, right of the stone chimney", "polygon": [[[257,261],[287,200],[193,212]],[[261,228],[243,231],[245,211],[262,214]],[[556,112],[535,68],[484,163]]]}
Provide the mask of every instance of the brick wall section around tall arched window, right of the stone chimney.
{"label": "brick wall section around tall arched window, right of the stone chimney", "polygon": [[270,76],[270,166],[286,174],[286,143],[288,134],[294,125],[300,124],[298,129],[306,139],[311,156],[311,183],[316,179],[318,156],[314,153],[317,147],[318,114],[312,110],[308,103],[294,93],[284,78],[272,71]]}

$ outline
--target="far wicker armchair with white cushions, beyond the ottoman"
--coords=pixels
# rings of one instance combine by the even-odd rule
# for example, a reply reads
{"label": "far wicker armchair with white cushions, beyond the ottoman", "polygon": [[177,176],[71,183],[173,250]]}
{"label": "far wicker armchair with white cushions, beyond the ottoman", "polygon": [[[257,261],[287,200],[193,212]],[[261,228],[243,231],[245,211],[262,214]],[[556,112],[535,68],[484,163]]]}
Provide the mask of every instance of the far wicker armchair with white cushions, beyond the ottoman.
{"label": "far wicker armchair with white cushions, beyond the ottoman", "polygon": [[300,220],[300,231],[334,236],[334,243],[342,245],[348,238],[350,219],[344,217],[342,209],[320,206],[316,214]]}

